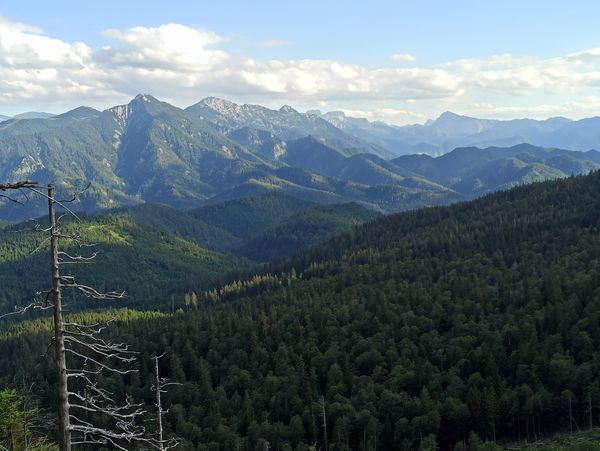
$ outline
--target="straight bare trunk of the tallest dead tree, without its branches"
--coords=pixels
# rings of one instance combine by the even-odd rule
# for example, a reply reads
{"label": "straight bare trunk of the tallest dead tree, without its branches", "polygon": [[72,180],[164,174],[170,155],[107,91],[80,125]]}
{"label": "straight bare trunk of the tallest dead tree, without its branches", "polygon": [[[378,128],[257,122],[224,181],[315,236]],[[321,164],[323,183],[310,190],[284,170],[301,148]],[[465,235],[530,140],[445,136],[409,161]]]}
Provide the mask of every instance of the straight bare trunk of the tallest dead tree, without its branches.
{"label": "straight bare trunk of the tallest dead tree, without its branches", "polygon": [[50,259],[52,265],[52,293],[54,294],[54,350],[58,379],[58,435],[60,451],[71,451],[69,425],[69,393],[67,389],[67,362],[65,357],[65,326],[62,319],[60,271],[58,264],[58,230],[54,213],[54,188],[48,185],[48,213],[50,217]]}

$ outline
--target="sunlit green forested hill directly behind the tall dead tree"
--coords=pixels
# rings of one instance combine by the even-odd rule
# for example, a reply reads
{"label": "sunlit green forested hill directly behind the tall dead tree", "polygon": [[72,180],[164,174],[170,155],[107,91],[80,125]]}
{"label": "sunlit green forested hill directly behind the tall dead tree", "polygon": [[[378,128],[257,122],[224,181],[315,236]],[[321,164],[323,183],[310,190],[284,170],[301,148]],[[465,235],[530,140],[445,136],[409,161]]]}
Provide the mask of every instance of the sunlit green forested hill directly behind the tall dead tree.
{"label": "sunlit green forested hill directly behind the tall dead tree", "polygon": [[[155,211],[159,216],[161,212]],[[234,268],[249,265],[230,254],[200,246],[191,239],[152,228],[136,221],[135,214],[114,212],[86,216],[82,223],[69,223],[65,233],[77,231],[92,248],[76,248],[68,240],[63,249],[72,253],[98,253],[93,265],[69,265],[63,272],[73,274],[86,285],[101,291],[127,292],[117,305],[165,306],[164,296],[192,291],[198,284],[206,287]],[[0,275],[3,288],[0,307],[21,305],[38,292],[47,289],[49,279],[47,249],[29,255],[43,241],[35,232],[23,232],[27,224],[0,230]],[[67,293],[70,303],[73,293]],[[108,303],[108,305],[114,305]],[[97,307],[97,302],[77,303],[77,308]],[[75,308],[73,306],[73,308]]]}

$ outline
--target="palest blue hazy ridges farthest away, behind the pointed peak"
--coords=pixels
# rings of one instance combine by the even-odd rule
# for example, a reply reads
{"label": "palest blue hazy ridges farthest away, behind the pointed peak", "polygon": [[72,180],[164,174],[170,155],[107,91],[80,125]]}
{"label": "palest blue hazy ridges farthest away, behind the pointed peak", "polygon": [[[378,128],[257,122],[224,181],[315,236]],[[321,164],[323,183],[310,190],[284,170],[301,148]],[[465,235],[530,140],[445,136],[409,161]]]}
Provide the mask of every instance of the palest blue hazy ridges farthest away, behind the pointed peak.
{"label": "palest blue hazy ridges farthest away, behind the pointed peak", "polygon": [[[72,111],[77,110],[80,108]],[[578,151],[600,149],[600,117],[497,120],[446,111],[424,124],[396,126],[351,117],[342,111],[322,113],[309,110],[300,113],[290,105],[274,110],[261,105],[240,105],[217,97],[206,97],[185,108],[185,111],[227,136],[243,139],[240,137],[242,133],[254,137],[270,134],[273,148],[266,148],[269,139],[266,142],[264,139],[250,139],[247,143],[251,149],[262,148],[268,154],[281,152],[281,149],[274,149],[278,142],[309,135],[348,155],[366,152],[383,158],[413,153],[442,155],[456,147],[509,147],[523,143]],[[13,117],[0,115],[0,123],[11,119],[47,119],[53,116],[44,112],[26,112]]]}

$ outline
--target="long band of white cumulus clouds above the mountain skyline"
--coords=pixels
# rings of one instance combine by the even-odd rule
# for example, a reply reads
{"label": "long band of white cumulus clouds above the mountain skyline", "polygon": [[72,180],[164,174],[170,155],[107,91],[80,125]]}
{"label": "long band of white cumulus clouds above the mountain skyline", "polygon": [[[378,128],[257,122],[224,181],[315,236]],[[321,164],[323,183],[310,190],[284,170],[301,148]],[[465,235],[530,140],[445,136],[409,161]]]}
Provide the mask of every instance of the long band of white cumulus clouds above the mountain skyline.
{"label": "long band of white cumulus clouds above the mountain skyline", "polygon": [[[328,105],[403,123],[444,109],[488,111],[492,117],[527,111],[577,115],[586,96],[598,94],[600,87],[600,49],[549,59],[504,54],[371,68],[232,55],[223,50],[218,34],[181,24],[110,29],[103,36],[104,46],[92,48],[0,17],[0,111],[57,104],[108,107],[150,92],[181,106],[218,95],[266,105]],[[391,58],[416,61],[410,54]],[[486,102],[493,107],[475,106]]]}

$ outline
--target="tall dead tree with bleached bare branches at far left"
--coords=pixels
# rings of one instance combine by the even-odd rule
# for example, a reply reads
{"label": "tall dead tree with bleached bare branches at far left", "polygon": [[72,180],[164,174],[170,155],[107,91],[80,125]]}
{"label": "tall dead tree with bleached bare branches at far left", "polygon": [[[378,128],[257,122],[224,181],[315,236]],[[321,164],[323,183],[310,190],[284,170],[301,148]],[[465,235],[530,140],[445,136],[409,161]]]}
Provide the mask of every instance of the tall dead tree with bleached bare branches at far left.
{"label": "tall dead tree with bleached bare branches at far left", "polygon": [[[61,219],[65,216],[79,220],[79,217],[66,205],[74,202],[78,195],[74,195],[69,200],[57,200],[52,185],[48,185],[47,190],[44,191],[35,182],[27,180],[12,184],[0,184],[0,197],[21,203],[20,199],[11,195],[11,191],[15,190],[20,191],[25,198],[27,198],[27,194],[24,190],[28,190],[48,201],[49,227],[43,228],[39,225],[34,227],[35,231],[45,234],[46,237],[32,253],[39,251],[49,243],[52,288],[37,293],[42,297],[34,299],[29,305],[16,308],[14,312],[2,316],[24,313],[28,310],[53,310],[54,337],[52,345],[54,346],[58,381],[60,451],[70,451],[73,444],[94,443],[108,444],[116,449],[126,451],[130,447],[125,447],[123,442],[149,442],[144,437],[144,427],[137,425],[137,420],[146,413],[141,404],[134,403],[130,398],[125,403],[119,404],[112,393],[99,387],[94,380],[94,377],[101,372],[127,374],[133,371],[131,363],[135,360],[136,353],[124,343],[111,343],[102,339],[101,333],[105,329],[103,326],[68,323],[63,320],[62,293],[66,288],[75,289],[93,299],[121,299],[125,296],[123,292],[99,292],[91,286],[79,283],[74,276],[61,273],[62,265],[91,263],[96,257],[96,254],[87,257],[72,255],[59,248],[62,239],[82,246],[80,237],[76,233],[63,233],[60,224]],[[65,211],[58,218],[56,216],[57,206]],[[67,354],[75,360],[79,360],[80,367],[70,369],[67,365]],[[129,368],[121,370],[119,364],[128,364]],[[72,384],[69,384],[70,380],[73,381]],[[71,390],[70,387],[75,388]],[[87,419],[89,415],[108,416],[112,420],[113,428],[95,426],[92,421]],[[161,446],[165,444],[162,439],[158,443]],[[168,444],[170,443],[168,442]]]}

